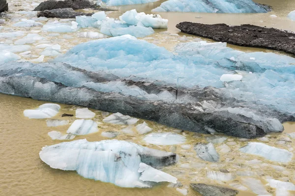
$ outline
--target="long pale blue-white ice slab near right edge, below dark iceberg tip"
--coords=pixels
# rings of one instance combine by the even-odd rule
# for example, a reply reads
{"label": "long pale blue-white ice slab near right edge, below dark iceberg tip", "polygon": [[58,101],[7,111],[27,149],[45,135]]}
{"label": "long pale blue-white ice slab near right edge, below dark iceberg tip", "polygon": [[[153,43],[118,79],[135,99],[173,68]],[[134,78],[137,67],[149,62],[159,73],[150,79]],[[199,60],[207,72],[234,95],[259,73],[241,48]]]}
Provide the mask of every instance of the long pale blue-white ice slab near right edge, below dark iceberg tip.
{"label": "long pale blue-white ice slab near right edge, below dark iceberg tip", "polygon": [[241,147],[239,150],[244,153],[262,156],[270,161],[283,163],[291,161],[293,157],[293,153],[288,150],[257,142],[250,142],[247,146]]}

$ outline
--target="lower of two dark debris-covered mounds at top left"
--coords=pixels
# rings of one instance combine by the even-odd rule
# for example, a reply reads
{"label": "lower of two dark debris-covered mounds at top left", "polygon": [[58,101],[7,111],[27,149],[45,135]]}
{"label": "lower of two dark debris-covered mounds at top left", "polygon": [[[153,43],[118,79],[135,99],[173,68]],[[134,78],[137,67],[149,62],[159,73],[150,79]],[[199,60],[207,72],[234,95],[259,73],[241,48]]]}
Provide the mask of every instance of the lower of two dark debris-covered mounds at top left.
{"label": "lower of two dark debris-covered mounds at top left", "polygon": [[38,17],[46,18],[75,18],[76,16],[91,16],[93,13],[76,12],[72,8],[52,9],[38,12]]}

